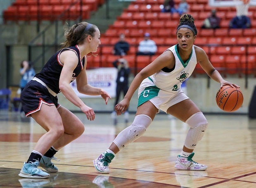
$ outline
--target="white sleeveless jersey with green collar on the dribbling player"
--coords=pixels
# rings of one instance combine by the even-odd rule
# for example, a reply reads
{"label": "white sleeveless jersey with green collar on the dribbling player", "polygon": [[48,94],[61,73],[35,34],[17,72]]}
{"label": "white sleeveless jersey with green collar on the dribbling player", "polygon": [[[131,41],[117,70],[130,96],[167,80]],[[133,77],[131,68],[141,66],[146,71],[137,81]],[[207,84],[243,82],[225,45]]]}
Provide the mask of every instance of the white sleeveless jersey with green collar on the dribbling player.
{"label": "white sleeveless jersey with green collar on the dribbling player", "polygon": [[194,45],[192,46],[190,58],[186,62],[183,62],[181,59],[177,50],[177,45],[178,44],[167,49],[170,50],[175,57],[175,69],[172,72],[164,72],[163,70],[160,70],[150,76],[156,87],[171,93],[177,93],[180,90],[182,82],[191,76],[197,64]]}

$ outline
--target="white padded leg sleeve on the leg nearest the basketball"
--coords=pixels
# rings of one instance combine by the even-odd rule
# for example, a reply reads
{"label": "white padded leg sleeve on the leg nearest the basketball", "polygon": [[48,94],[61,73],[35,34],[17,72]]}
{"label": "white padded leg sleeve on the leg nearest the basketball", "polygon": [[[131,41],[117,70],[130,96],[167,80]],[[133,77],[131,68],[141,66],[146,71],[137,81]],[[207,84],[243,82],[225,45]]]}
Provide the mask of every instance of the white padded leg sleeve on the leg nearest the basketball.
{"label": "white padded leg sleeve on the leg nearest the basketball", "polygon": [[208,122],[202,112],[197,112],[190,116],[186,123],[190,125],[190,129],[187,132],[184,145],[188,149],[194,149],[197,146],[197,142],[203,138]]}

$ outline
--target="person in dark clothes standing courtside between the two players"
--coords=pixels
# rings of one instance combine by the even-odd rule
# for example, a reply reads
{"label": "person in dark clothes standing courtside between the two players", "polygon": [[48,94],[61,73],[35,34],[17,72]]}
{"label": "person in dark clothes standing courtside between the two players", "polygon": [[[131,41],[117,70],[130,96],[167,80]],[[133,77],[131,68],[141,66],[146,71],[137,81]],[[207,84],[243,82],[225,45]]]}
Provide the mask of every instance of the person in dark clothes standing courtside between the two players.
{"label": "person in dark clothes standing courtside between the two players", "polygon": [[[130,68],[128,61],[125,58],[119,58],[113,62],[113,66],[117,68],[117,78],[116,78],[116,101],[114,104],[114,109],[116,104],[119,102],[119,97],[121,92],[123,92],[123,97],[128,91],[128,79],[130,75]],[[116,111],[114,110],[111,114],[111,117],[114,119],[114,125],[116,125]],[[124,113],[125,122],[128,123],[129,112],[128,110]]]}

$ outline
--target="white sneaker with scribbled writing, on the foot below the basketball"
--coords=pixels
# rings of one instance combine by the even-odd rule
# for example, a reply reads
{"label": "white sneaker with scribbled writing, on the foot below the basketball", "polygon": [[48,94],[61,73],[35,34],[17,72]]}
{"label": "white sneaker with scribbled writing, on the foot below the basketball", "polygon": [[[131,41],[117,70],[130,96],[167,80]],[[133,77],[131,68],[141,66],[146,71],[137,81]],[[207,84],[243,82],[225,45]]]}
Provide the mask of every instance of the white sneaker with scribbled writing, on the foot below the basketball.
{"label": "white sneaker with scribbled writing, on the foot below the basketball", "polygon": [[193,156],[194,152],[191,153],[188,157],[182,157],[179,155],[174,167],[179,170],[206,170],[208,168],[207,165],[194,162],[194,160],[192,160]]}

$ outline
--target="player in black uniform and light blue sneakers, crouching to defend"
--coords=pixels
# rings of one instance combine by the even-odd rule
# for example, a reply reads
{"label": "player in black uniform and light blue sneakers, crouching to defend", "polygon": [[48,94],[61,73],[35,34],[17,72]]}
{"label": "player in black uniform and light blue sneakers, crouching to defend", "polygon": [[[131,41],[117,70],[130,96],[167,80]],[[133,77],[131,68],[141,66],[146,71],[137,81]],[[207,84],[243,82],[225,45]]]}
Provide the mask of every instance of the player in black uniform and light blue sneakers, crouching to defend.
{"label": "player in black uniform and light blue sneakers, crouching to defend", "polygon": [[97,26],[81,22],[65,32],[66,41],[35,75],[21,93],[21,103],[26,116],[32,116],[47,133],[38,140],[34,150],[19,173],[25,178],[47,178],[38,165],[48,172],[57,172],[51,159],[55,153],[78,138],[84,132],[83,123],[71,111],[58,104],[57,94],[63,95],[79,107],[92,121],[95,113],[76,95],[69,85],[76,79],[77,89],[85,95],[101,95],[107,104],[110,95],[101,88],[87,83],[86,55],[97,51],[100,45],[100,30]]}

